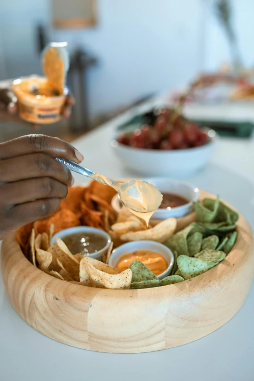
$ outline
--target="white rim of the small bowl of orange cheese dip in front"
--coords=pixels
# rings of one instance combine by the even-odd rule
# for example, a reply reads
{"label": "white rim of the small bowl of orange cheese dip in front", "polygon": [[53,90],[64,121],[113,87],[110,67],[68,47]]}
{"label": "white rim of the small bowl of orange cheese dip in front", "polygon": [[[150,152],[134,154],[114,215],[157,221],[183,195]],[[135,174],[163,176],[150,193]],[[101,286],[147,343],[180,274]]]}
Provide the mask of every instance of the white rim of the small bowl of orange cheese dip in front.
{"label": "white rim of the small bowl of orange cheese dip in front", "polygon": [[155,241],[132,241],[124,243],[112,251],[109,257],[109,265],[115,267],[121,255],[142,249],[151,250],[152,252],[163,255],[165,258],[168,267],[164,272],[158,275],[159,279],[163,279],[165,276],[170,275],[175,260],[174,254],[165,245]]}

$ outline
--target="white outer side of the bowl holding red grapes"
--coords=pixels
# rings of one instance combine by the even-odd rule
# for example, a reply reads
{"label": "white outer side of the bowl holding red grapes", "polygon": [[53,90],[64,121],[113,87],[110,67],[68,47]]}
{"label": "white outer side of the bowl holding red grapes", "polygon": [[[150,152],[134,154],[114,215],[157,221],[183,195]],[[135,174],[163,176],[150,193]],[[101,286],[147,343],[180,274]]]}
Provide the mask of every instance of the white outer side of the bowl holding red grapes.
{"label": "white outer side of the bowl holding red grapes", "polygon": [[216,133],[209,130],[210,142],[195,148],[154,150],[133,148],[111,142],[115,155],[122,163],[142,176],[170,176],[182,178],[203,168],[210,160],[216,143]]}

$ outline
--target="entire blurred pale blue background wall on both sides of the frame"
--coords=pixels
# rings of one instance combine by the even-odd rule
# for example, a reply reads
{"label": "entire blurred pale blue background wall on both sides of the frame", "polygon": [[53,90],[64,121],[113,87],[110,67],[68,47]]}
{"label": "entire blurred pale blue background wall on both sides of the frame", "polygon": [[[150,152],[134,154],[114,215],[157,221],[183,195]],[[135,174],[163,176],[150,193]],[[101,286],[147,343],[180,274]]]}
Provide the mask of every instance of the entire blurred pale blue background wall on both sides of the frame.
{"label": "entire blurred pale blue background wall on both sides of the frame", "polygon": [[[36,29],[41,25],[49,41],[66,40],[71,52],[81,47],[96,57],[87,73],[91,119],[126,107],[229,61],[214,1],[97,0],[97,24],[88,29],[54,29],[50,0],[2,1],[0,79],[41,73]],[[251,65],[254,1],[231,3],[244,64]]]}

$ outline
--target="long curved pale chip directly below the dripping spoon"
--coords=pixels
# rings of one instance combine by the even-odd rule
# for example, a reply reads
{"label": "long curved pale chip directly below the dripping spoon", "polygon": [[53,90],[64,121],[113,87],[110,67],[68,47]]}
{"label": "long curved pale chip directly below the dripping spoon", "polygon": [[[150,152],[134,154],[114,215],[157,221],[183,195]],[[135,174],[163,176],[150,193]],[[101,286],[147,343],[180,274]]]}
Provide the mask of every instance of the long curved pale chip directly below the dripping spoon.
{"label": "long curved pale chip directly below the dripping spoon", "polygon": [[139,232],[129,232],[120,236],[122,241],[151,240],[164,243],[174,234],[176,229],[176,218],[168,218],[158,223],[151,229]]}

